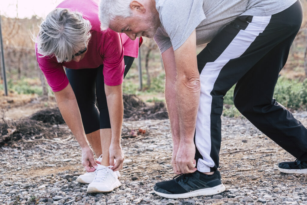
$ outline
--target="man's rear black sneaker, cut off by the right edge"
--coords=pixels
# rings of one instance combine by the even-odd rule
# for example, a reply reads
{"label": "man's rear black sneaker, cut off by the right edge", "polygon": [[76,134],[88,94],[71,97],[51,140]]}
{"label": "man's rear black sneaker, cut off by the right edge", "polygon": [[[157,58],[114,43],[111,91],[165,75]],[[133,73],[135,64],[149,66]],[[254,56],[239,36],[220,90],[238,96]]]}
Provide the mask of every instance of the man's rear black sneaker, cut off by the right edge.
{"label": "man's rear black sneaker, cut off by the right edge", "polygon": [[294,162],[278,163],[278,170],[287,174],[307,174],[307,162],[295,160]]}

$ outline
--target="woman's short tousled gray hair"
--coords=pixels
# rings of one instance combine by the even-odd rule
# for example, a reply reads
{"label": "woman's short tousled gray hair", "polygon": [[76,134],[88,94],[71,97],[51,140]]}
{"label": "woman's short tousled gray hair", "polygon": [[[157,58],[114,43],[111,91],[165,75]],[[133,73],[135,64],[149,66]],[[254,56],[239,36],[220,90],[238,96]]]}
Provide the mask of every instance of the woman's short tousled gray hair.
{"label": "woman's short tousled gray hair", "polygon": [[56,8],[39,26],[35,40],[42,56],[55,56],[58,62],[71,61],[87,46],[91,38],[91,23],[79,12]]}

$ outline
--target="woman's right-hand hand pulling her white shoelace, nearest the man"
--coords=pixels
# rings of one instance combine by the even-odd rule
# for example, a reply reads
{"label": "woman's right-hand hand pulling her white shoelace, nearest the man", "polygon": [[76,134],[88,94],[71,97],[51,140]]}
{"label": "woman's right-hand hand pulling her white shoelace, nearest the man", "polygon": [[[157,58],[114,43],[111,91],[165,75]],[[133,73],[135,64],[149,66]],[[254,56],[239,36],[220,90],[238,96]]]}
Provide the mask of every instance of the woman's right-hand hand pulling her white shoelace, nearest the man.
{"label": "woman's right-hand hand pulling her white shoelace, nearest the man", "polygon": [[[109,148],[110,166],[113,166],[113,171],[118,171],[122,168],[124,161],[124,153],[120,143],[111,143]],[[114,163],[115,160],[115,163]]]}

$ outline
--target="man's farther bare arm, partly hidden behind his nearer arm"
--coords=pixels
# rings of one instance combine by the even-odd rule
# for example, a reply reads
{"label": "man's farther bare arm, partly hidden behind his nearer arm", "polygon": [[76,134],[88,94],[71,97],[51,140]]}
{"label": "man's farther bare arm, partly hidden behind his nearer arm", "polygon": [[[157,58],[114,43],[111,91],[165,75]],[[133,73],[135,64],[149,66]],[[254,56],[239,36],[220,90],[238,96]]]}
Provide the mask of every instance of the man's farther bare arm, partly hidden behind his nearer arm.
{"label": "man's farther bare arm, partly hidden behind his nearer arm", "polygon": [[170,47],[162,53],[163,65],[165,69],[165,101],[166,108],[169,113],[169,120],[171,123],[172,137],[173,137],[173,156],[172,165],[175,174],[181,174],[177,170],[176,156],[180,144],[180,128],[179,128],[179,114],[176,101],[176,62],[173,47]]}

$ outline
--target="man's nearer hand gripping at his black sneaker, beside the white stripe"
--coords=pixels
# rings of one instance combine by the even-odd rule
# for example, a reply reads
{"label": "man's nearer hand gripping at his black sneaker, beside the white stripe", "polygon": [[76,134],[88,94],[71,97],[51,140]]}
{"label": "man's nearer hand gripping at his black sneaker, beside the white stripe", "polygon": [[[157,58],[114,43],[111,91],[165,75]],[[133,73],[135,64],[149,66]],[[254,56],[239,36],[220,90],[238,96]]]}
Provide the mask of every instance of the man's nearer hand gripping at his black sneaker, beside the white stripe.
{"label": "man's nearer hand gripping at his black sneaker, beside the white stripe", "polygon": [[184,143],[181,141],[176,156],[177,173],[189,174],[195,172],[197,168],[195,168],[196,161],[194,157],[195,145],[193,141],[191,143]]}

